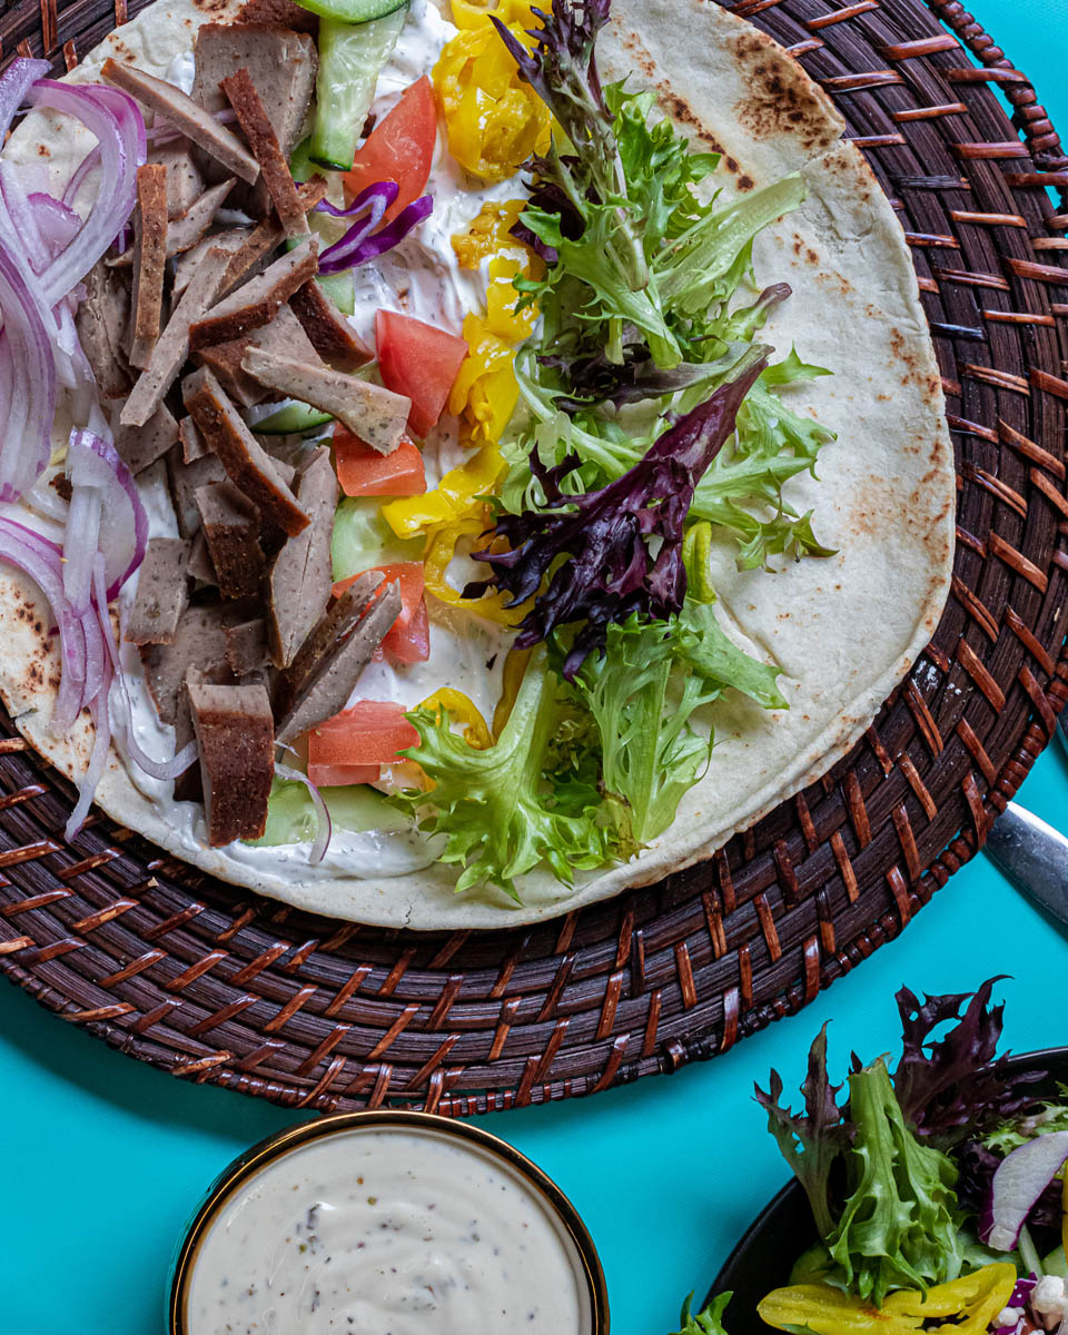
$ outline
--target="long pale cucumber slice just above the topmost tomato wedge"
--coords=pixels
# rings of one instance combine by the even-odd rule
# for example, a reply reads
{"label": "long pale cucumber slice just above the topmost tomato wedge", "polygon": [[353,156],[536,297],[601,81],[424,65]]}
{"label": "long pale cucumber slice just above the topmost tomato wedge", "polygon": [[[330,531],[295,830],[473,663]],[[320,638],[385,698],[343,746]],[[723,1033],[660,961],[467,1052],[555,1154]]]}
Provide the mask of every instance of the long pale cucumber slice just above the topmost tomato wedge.
{"label": "long pale cucumber slice just above the topmost tomato wedge", "polygon": [[[343,4],[363,7],[362,0],[343,0]],[[384,17],[368,16],[355,24],[326,17],[319,24],[315,127],[308,155],[320,167],[348,171],[352,166],[378,73],[396,45],[406,15],[407,3]]]}

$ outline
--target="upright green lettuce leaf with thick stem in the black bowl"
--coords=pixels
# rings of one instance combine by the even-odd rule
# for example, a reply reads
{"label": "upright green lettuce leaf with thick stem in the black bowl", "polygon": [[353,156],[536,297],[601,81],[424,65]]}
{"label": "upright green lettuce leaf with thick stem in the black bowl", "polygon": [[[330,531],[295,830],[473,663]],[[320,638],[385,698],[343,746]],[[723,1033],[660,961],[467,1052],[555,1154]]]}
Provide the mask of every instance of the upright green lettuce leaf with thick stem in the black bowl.
{"label": "upright green lettuce leaf with thick stem in the black bowl", "polygon": [[908,1128],[885,1061],[849,1076],[849,1195],[826,1244],[850,1292],[881,1307],[894,1288],[926,1292],[956,1279],[957,1168]]}

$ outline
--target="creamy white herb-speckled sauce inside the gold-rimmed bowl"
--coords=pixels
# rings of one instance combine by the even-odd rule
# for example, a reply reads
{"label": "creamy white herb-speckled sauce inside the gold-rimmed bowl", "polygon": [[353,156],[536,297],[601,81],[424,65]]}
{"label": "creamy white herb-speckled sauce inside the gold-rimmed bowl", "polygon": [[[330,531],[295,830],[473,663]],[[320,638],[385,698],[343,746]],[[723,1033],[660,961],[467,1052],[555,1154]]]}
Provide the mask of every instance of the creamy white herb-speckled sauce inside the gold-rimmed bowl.
{"label": "creamy white herb-speckled sauce inside the gold-rimmed bowl", "polygon": [[187,1335],[591,1335],[575,1243],[507,1163],[354,1129],[270,1163],[196,1252]]}

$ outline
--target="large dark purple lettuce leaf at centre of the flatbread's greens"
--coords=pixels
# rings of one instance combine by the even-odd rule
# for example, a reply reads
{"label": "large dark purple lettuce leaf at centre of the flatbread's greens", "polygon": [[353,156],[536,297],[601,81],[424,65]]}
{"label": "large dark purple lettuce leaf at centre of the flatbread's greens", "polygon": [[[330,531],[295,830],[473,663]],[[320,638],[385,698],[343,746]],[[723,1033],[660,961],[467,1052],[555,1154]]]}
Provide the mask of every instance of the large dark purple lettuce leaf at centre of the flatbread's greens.
{"label": "large dark purple lettuce leaf at centre of the flatbread's greens", "polygon": [[766,364],[765,352],[756,346],[738,379],[721,386],[665,431],[633,469],[597,491],[565,494],[561,482],[578,459],[570,455],[549,469],[534,450],[530,467],[545,490],[546,509],[498,517],[494,535],[509,550],[474,554],[491,574],[469,583],[465,597],[497,587],[511,594],[510,606],[534,598],[519,623],[517,649],[547,639],[558,626],[582,622],[563,663],[569,681],[587,654],[603,647],[611,622],[622,623],[635,611],[653,619],[681,611],[684,523],[693,493],[733,434],[738,409]]}

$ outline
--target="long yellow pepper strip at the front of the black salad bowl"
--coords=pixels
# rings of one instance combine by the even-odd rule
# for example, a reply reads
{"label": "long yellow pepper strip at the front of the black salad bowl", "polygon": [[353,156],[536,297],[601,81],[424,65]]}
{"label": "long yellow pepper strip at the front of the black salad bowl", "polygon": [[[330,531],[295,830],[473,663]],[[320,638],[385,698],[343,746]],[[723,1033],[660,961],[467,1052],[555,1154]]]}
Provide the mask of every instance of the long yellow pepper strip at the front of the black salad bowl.
{"label": "long yellow pepper strip at the front of the black salad bowl", "polygon": [[985,1335],[1015,1286],[1016,1267],[997,1263],[926,1294],[900,1290],[882,1307],[829,1284],[793,1284],[769,1294],[757,1312],[778,1330],[804,1326],[814,1335]]}

